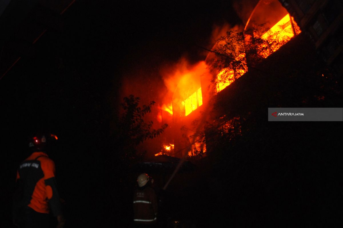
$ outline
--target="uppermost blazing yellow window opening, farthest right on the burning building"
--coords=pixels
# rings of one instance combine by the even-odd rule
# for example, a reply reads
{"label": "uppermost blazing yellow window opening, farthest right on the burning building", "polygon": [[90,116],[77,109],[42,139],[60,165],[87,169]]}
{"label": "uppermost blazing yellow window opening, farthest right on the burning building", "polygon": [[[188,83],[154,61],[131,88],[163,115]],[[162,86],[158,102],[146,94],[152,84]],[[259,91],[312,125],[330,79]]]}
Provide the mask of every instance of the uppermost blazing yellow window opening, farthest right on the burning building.
{"label": "uppermost blazing yellow window opening, farthest right on the burning building", "polygon": [[[291,21],[292,20],[292,21]],[[294,30],[292,28],[292,22],[294,26]],[[293,17],[289,14],[284,16],[279,22],[277,22],[271,29],[269,29],[266,33],[264,33],[261,38],[267,40],[271,43],[271,53],[275,52],[292,37],[299,34],[301,32],[299,26],[294,21]],[[263,53],[262,56],[267,58],[270,52]]]}

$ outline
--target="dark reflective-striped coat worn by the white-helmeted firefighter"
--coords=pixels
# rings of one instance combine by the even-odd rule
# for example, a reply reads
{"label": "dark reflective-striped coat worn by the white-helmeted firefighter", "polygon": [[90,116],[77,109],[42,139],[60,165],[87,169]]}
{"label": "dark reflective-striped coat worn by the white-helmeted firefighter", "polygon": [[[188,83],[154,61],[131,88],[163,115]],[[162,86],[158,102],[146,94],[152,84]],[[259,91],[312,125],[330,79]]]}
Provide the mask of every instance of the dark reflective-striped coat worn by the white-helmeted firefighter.
{"label": "dark reflective-striped coat worn by the white-helmeted firefighter", "polygon": [[138,188],[133,195],[134,223],[156,223],[157,197],[150,186]]}

